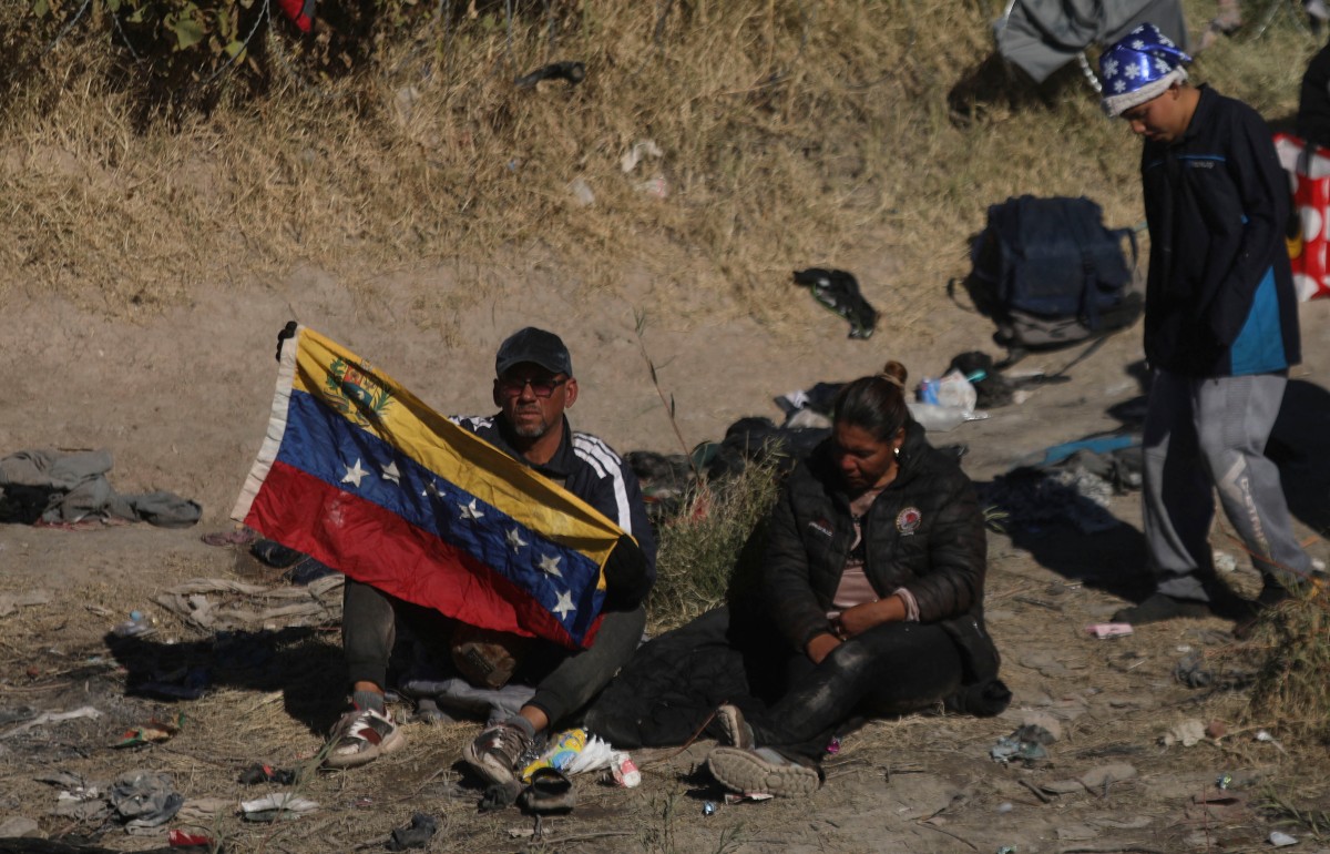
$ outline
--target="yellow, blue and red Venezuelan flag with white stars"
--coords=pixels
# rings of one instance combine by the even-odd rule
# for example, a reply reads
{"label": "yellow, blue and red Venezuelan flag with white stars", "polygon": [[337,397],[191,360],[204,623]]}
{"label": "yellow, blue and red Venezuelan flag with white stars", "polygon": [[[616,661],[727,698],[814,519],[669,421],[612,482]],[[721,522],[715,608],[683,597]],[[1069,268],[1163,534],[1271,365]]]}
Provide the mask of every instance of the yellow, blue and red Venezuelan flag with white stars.
{"label": "yellow, blue and red Venezuelan flag with white stars", "polygon": [[588,646],[622,531],[303,326],[231,516],[469,625]]}

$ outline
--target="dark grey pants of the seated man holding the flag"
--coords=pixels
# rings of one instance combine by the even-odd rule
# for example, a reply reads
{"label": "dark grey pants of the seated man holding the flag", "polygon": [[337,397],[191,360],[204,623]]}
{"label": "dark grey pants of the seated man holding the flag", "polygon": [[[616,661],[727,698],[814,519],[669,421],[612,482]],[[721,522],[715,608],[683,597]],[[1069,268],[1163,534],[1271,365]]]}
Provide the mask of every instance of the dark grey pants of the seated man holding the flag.
{"label": "dark grey pants of the seated man holding the flag", "polygon": [[[388,596],[368,584],[346,580],[342,609],[342,649],[350,682],[374,682],[386,688],[388,657],[396,640],[396,620],[427,648],[447,649],[452,621],[438,611]],[[533,641],[531,661],[517,673],[533,676],[533,705],[549,718],[563,722],[580,710],[609,684],[633,657],[646,627],[646,611],[606,611],[589,649],[564,649],[551,641]],[[436,642],[431,642],[431,640]],[[442,642],[438,642],[442,641]],[[524,680],[525,681],[525,680]]]}

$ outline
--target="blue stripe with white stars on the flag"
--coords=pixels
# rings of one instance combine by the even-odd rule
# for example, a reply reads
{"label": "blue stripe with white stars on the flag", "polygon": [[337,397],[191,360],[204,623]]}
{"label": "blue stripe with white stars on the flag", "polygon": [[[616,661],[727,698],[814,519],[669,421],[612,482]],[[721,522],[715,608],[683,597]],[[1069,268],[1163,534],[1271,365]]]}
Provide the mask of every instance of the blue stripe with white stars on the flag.
{"label": "blue stripe with white stars on the flag", "polygon": [[[531,593],[579,642],[600,612],[604,593],[596,589],[600,579],[596,561],[577,549],[549,541],[458,488],[390,443],[332,412],[306,391],[291,391],[286,434],[277,459],[372,501],[480,560]],[[356,460],[368,472],[360,478],[359,487],[343,482]],[[396,464],[400,483],[383,476],[390,463]],[[463,513],[463,507],[472,501],[480,515],[476,520]],[[523,545],[509,543],[509,532],[513,531]],[[563,577],[544,572],[540,568],[543,559],[557,559]],[[555,607],[564,591],[571,592],[576,611],[560,616]]]}

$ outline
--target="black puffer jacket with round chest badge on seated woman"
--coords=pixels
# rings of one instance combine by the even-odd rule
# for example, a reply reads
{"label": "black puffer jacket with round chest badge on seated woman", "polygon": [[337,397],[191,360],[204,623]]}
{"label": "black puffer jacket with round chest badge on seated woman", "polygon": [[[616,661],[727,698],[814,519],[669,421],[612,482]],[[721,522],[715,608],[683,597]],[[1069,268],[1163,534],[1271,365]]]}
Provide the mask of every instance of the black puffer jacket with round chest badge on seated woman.
{"label": "black puffer jacket with round chest badge on seated woman", "polygon": [[[983,623],[983,512],[955,458],[928,446],[923,432],[907,427],[899,474],[861,521],[864,575],[879,597],[910,591],[919,621],[940,623],[952,635],[967,682],[992,678],[998,650]],[[837,484],[829,440],[791,472],[771,512],[765,611],[798,650],[831,631],[826,615],[854,543],[850,499]]]}

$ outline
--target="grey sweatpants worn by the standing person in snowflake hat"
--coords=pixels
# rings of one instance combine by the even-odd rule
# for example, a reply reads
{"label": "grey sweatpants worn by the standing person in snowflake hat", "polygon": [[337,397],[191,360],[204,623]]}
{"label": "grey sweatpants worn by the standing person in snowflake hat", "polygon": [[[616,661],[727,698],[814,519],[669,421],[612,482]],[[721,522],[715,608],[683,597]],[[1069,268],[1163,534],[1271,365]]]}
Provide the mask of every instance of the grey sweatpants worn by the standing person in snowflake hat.
{"label": "grey sweatpants worn by the standing person in snowflake hat", "polygon": [[1265,443],[1287,378],[1278,374],[1194,379],[1156,371],[1145,416],[1145,547],[1158,592],[1209,601],[1212,490],[1266,577],[1286,587],[1311,569],[1293,533],[1279,470]]}

